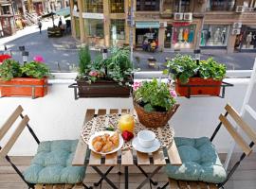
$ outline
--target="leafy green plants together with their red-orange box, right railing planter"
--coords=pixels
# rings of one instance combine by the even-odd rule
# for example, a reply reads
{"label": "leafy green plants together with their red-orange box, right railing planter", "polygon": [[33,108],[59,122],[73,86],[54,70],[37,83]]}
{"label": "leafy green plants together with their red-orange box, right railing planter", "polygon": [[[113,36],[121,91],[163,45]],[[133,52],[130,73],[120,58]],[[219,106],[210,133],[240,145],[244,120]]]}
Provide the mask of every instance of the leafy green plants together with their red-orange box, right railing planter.
{"label": "leafy green plants together with their red-orange box, right railing planter", "polygon": [[209,58],[196,63],[189,55],[177,55],[167,61],[169,74],[175,79],[175,90],[181,96],[198,94],[219,95],[226,65]]}

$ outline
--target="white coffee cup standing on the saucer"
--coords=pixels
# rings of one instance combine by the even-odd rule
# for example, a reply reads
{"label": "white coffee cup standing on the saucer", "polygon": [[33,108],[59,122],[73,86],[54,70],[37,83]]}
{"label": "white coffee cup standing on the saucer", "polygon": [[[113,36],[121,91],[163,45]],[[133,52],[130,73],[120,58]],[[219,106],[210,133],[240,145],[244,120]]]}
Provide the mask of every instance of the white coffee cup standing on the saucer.
{"label": "white coffee cup standing on the saucer", "polygon": [[155,141],[155,132],[151,130],[140,130],[137,133],[137,140],[142,147],[152,147]]}

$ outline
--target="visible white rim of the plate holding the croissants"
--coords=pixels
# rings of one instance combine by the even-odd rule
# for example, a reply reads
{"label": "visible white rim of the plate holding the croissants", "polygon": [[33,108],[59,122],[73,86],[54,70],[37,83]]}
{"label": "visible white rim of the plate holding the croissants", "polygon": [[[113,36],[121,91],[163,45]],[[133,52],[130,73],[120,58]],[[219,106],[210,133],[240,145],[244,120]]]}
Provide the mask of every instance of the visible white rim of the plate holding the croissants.
{"label": "visible white rim of the plate holding the croissants", "polygon": [[88,142],[88,146],[89,148],[94,151],[95,153],[99,153],[101,155],[106,155],[106,154],[111,154],[111,153],[114,153],[116,151],[119,151],[119,149],[123,146],[123,139],[121,137],[121,135],[119,134],[119,146],[116,147],[115,149],[113,149],[112,151],[109,151],[107,153],[103,153],[103,152],[98,152],[94,149],[94,147],[92,146],[92,140],[97,137],[97,136],[100,136],[100,135],[104,135],[104,134],[109,134],[110,136],[112,136],[115,132],[114,131],[109,131],[109,130],[105,130],[105,131],[100,131],[100,132],[95,132],[89,139],[89,142]]}

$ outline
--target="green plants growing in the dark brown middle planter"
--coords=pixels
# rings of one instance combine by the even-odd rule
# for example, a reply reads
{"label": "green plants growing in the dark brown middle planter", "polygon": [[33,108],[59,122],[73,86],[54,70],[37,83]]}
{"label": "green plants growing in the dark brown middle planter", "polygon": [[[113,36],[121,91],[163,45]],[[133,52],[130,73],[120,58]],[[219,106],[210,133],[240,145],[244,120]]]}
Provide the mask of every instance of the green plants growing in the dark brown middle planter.
{"label": "green plants growing in the dark brown middle planter", "polygon": [[105,60],[101,55],[91,60],[89,47],[82,47],[79,52],[79,68],[78,79],[88,83],[97,80],[114,80],[119,85],[130,85],[127,81],[132,79],[134,72],[129,49],[119,47],[110,49],[109,57]]}

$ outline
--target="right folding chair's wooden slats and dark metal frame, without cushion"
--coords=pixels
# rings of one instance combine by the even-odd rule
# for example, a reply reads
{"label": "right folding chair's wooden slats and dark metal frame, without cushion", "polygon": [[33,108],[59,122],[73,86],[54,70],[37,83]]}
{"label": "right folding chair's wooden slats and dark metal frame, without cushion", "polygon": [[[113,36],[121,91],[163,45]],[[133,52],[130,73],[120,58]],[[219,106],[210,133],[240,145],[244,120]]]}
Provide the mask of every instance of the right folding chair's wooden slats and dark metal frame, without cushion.
{"label": "right folding chair's wooden slats and dark metal frame, without cushion", "polygon": [[[241,147],[243,154],[241,155],[238,162],[236,162],[233,167],[229,170],[227,179],[219,184],[212,184],[212,183],[206,183],[202,181],[187,181],[187,180],[173,180],[169,179],[170,187],[171,189],[216,189],[216,188],[222,188],[224,184],[230,179],[234,171],[237,169],[237,167],[240,165],[240,163],[252,152],[252,147],[254,144],[256,144],[256,131],[254,129],[251,129],[249,125],[243,120],[243,118],[239,115],[238,112],[235,111],[233,107],[231,107],[229,104],[225,107],[226,113],[220,114],[219,120],[220,123],[217,126],[217,128],[214,130],[212,136],[210,137],[210,142],[213,141],[215,138],[217,132],[223,125],[229,132],[229,134],[232,136],[234,141],[238,146]],[[251,141],[249,144],[247,144],[246,140],[243,138],[243,136],[238,132],[238,130],[233,126],[233,122],[229,121],[229,118],[233,120],[236,125],[242,129],[247,138]],[[164,185],[162,188],[165,188],[167,186]]]}

